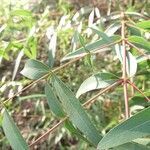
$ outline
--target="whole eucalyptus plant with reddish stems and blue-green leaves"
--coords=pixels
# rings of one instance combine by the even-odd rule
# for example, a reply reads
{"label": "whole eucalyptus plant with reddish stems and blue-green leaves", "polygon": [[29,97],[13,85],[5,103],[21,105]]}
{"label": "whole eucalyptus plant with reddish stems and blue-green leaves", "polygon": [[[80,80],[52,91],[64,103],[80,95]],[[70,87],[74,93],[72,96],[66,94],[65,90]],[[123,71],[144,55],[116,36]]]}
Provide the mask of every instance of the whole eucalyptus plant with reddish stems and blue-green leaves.
{"label": "whole eucalyptus plant with reddish stems and blue-green leaves", "polygon": [[[97,9],[92,10],[90,18],[93,13],[97,14]],[[74,16],[73,22],[75,18]],[[102,31],[98,26],[100,22],[108,22],[110,26]],[[56,44],[56,37],[53,37],[53,42],[50,45],[49,63],[42,63],[36,59],[27,60],[21,74],[34,81],[23,88],[21,92],[28,90],[33,84],[44,79],[46,81],[44,91],[47,103],[54,116],[60,121],[28,145],[5,107],[8,101],[21,92],[16,93],[13,97],[3,102],[2,127],[13,149],[30,149],[59,128],[61,124],[65,124],[65,127],[71,133],[98,150],[150,149],[147,143],[144,142],[150,135],[150,108],[144,107],[142,111],[132,114],[129,106],[129,92],[131,92],[129,86],[140,94],[139,97],[133,95],[133,99],[130,101],[134,99],[143,99],[146,103],[150,101],[149,93],[139,89],[133,80],[136,75],[143,73],[143,70],[138,70],[141,63],[144,63],[146,73],[150,71],[147,63],[150,59],[149,16],[135,12],[121,12],[110,14],[105,18],[100,17],[96,21],[93,20],[92,24],[89,24],[88,33],[91,32],[92,35],[94,34],[98,38],[85,44],[84,37],[76,30],[74,44],[78,41],[81,47],[64,56],[60,66],[54,67],[56,46],[53,46],[53,44]],[[94,67],[93,56],[106,51],[112,51],[113,53],[111,54],[120,61],[121,68],[115,74],[101,70],[94,72],[81,83],[76,93],[72,92],[68,85],[57,76],[57,72],[82,59],[85,59],[91,68]],[[74,71],[78,73],[76,70]],[[95,103],[100,95],[108,94],[112,89],[115,90],[116,87],[123,88],[124,95],[122,98],[124,99],[125,117],[121,123],[103,135],[102,131],[97,129],[89,118],[87,114],[88,108]],[[97,94],[82,103],[80,96],[93,90],[98,91]]]}

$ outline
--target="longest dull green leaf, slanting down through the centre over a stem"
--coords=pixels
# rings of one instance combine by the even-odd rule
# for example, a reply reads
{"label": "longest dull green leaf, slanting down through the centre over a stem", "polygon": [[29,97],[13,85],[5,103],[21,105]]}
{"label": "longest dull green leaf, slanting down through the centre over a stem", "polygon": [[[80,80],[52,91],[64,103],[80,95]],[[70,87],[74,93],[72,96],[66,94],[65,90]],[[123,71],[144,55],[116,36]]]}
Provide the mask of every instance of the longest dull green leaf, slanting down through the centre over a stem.
{"label": "longest dull green leaf, slanting down through the centre over a stem", "polygon": [[82,108],[79,100],[72,91],[56,76],[52,79],[56,93],[60,98],[64,110],[71,122],[87,137],[94,145],[97,145],[102,136],[98,133],[88,115]]}

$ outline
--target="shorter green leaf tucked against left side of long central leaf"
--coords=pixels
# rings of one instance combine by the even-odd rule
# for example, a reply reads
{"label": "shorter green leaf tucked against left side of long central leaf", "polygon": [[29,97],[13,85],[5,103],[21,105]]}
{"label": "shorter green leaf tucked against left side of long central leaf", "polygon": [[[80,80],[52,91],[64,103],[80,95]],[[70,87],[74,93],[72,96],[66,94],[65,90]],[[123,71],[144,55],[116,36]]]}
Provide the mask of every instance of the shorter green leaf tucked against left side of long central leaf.
{"label": "shorter green leaf tucked against left side of long central leaf", "polygon": [[50,86],[49,83],[46,83],[45,85],[45,95],[47,98],[48,105],[52,112],[57,116],[57,117],[64,117],[64,111],[62,109],[62,106],[57,99],[55,93],[53,92],[52,87]]}

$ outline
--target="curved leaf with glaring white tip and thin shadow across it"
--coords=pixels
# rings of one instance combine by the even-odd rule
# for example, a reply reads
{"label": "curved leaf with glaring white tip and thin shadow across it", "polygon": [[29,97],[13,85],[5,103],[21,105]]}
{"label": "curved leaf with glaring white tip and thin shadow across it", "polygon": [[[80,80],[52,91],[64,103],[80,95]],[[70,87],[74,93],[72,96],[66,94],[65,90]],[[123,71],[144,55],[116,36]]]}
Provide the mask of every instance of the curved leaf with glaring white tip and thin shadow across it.
{"label": "curved leaf with glaring white tip and thin shadow across it", "polygon": [[97,73],[87,78],[79,87],[76,97],[88,91],[106,88],[107,86],[115,83],[118,78],[111,73]]}

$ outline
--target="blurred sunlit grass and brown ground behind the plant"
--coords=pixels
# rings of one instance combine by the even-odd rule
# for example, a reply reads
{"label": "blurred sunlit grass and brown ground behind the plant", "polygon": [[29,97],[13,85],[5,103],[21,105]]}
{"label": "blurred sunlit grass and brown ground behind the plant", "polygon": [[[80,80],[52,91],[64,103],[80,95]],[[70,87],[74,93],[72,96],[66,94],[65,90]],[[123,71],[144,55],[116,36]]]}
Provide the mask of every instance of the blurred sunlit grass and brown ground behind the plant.
{"label": "blurred sunlit grass and brown ground behind the plant", "polygon": [[[29,144],[57,124],[59,118],[49,109],[44,93],[45,80],[22,91],[23,87],[33,82],[20,74],[27,60],[39,60],[51,68],[63,65],[65,62],[61,60],[65,55],[98,39],[97,34],[89,29],[93,24],[108,35],[113,35],[116,30],[113,27],[116,27],[116,34],[120,35],[119,18],[116,17],[122,9],[131,14],[129,18],[132,23],[150,18],[149,0],[0,0],[0,4],[0,101],[8,100],[5,103],[7,110]],[[143,36],[148,42],[148,30],[145,33],[131,26],[126,34]],[[137,76],[132,81],[149,97],[150,61],[139,55],[135,48],[131,52],[136,58],[139,56],[138,59],[144,59],[138,64]],[[146,55],[149,56],[149,53],[146,52]],[[57,76],[74,93],[85,79],[99,71],[121,75],[121,64],[114,51],[107,50],[89,56],[57,72]],[[15,95],[18,92],[20,94]],[[81,103],[95,94],[97,90],[81,95]],[[13,100],[9,100],[13,96]],[[129,88],[129,99],[132,115],[149,106],[149,102],[145,102],[144,97],[133,88]],[[123,100],[123,88],[117,87],[110,89],[109,94],[97,97],[97,101],[89,106],[88,116],[103,135],[125,118]],[[1,114],[1,125],[2,120]],[[2,126],[0,130],[0,148],[11,149]],[[147,141],[150,142],[149,138]],[[32,148],[95,149],[70,133],[65,125]]]}

